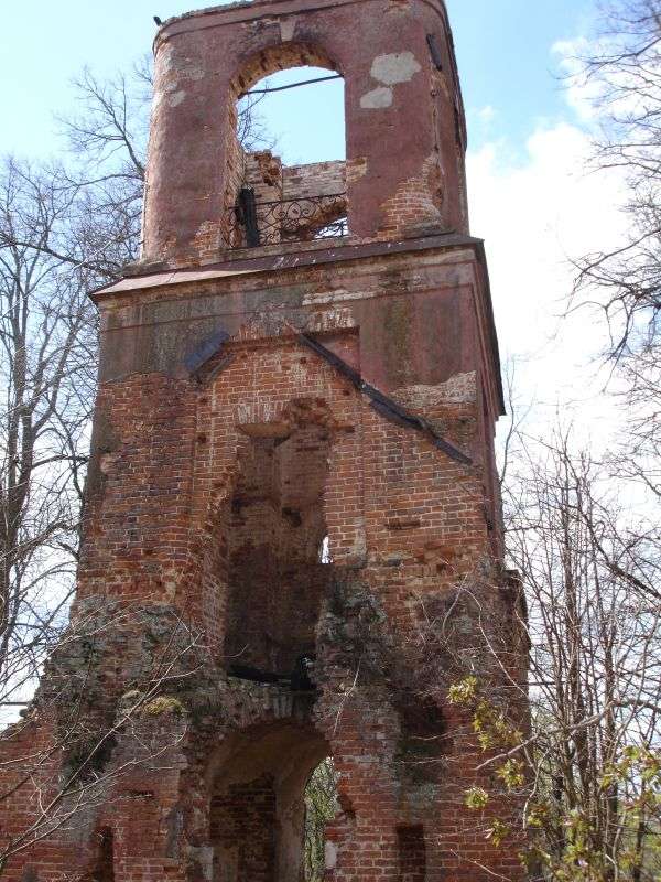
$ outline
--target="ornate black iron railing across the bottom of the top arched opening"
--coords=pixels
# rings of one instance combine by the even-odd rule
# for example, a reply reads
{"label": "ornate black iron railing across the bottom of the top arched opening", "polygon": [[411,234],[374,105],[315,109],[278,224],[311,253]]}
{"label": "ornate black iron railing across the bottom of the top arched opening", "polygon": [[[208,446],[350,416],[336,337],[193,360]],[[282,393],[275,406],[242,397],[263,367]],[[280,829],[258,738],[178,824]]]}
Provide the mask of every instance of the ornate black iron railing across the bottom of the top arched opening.
{"label": "ornate black iron railing across the bottom of the top arched opening", "polygon": [[256,202],[253,192],[243,189],[227,215],[228,241],[231,248],[254,248],[346,236],[346,193]]}

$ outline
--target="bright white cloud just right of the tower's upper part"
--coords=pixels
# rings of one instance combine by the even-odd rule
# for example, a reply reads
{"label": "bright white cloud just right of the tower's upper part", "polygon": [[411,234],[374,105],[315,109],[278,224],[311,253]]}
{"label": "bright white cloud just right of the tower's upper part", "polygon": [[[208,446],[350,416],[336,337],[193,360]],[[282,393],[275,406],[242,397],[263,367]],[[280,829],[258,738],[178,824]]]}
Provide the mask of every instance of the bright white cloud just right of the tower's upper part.
{"label": "bright white cloud just right of the tower's upper part", "polygon": [[[521,397],[541,427],[560,405],[603,434],[613,407],[600,395],[595,356],[605,327],[594,313],[564,319],[572,258],[608,247],[622,232],[621,181],[587,173],[589,138],[567,122],[538,128],[513,162],[506,142],[468,155],[474,235],[486,239],[503,358],[522,361]],[[588,416],[589,415],[589,416]]]}

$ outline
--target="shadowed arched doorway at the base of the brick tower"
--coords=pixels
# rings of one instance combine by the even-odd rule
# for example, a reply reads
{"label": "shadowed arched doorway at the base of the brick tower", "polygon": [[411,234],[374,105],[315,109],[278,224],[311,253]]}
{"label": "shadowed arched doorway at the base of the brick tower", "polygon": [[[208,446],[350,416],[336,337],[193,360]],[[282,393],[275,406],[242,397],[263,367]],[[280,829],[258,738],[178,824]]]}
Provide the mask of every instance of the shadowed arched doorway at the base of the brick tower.
{"label": "shadowed arched doorway at the base of the brick tower", "polygon": [[305,787],[328,755],[314,728],[294,720],[223,742],[208,771],[214,879],[300,882]]}

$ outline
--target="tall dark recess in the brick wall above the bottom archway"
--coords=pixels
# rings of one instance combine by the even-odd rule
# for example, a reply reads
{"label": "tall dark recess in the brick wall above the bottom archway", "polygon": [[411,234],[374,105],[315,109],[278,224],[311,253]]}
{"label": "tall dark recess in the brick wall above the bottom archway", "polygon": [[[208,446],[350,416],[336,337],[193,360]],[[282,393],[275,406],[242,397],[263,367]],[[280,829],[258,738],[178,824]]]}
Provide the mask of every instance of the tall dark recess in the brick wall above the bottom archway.
{"label": "tall dark recess in the brick wall above the bottom archway", "polygon": [[[324,491],[330,440],[324,426],[286,439],[247,439],[223,527],[227,579],[225,660],[262,682],[289,680],[315,655],[315,628],[333,578]],[[326,545],[327,548],[327,545]],[[252,673],[251,673],[252,671]],[[269,679],[271,678],[271,679]]]}

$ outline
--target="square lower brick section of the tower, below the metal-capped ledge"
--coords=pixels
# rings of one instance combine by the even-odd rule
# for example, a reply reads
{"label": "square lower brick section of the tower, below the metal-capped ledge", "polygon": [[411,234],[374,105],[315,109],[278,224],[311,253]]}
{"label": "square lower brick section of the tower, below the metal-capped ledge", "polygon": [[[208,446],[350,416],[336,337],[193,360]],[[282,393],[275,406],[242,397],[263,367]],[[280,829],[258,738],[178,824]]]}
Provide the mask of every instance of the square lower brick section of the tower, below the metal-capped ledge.
{"label": "square lower brick section of the tower, below the metal-capped ledge", "polygon": [[[112,740],[94,799],[13,858],[9,882],[29,868],[39,882],[109,875],[110,861],[117,882],[300,882],[304,787],[326,755],[342,809],[329,882],[521,878],[464,805],[486,778],[446,699],[478,625],[511,627],[506,664],[524,671],[497,559],[498,363],[475,249],[339,249],[318,266],[302,251],[290,269],[228,265],[100,295],[73,626],[90,607],[101,625],[64,646],[26,728],[4,739],[17,764],[0,786],[23,784],[0,841],[39,816],[40,782],[51,793],[90,739],[110,727]],[[356,374],[470,463],[379,412]],[[199,639],[177,656],[187,634]],[[314,650],[316,690],[228,676],[243,647],[271,673]],[[490,655],[472,658],[489,675]],[[164,666],[163,702],[122,718]],[[25,777],[33,750],[48,759]],[[513,808],[494,803],[484,820]]]}

